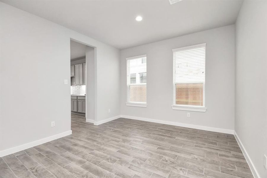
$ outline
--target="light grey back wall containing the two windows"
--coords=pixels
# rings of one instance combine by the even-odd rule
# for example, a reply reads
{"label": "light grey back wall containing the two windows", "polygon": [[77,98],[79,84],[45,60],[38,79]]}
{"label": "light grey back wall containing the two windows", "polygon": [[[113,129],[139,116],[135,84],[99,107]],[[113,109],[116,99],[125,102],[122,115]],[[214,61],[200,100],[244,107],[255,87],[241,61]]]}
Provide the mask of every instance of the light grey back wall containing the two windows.
{"label": "light grey back wall containing the two windows", "polygon": [[[234,130],[234,25],[121,50],[121,115]],[[206,45],[206,112],[172,110],[172,49]],[[126,106],[126,60],[147,55],[147,108]]]}

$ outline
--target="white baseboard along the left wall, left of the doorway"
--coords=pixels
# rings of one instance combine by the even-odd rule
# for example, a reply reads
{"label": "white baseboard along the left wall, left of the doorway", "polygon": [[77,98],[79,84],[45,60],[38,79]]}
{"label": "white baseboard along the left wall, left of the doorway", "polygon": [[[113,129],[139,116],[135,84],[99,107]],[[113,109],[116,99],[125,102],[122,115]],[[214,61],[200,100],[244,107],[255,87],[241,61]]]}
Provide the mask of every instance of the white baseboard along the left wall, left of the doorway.
{"label": "white baseboard along the left wall, left of the doorway", "polygon": [[15,153],[15,152],[18,152],[18,151],[22,151],[22,150],[25,150],[25,149],[28,149],[28,148],[31,148],[31,147],[35,147],[35,146],[37,146],[39,144],[50,142],[52,140],[59,139],[59,138],[61,138],[63,136],[67,136],[67,135],[71,135],[71,134],[72,134],[72,131],[70,130],[70,131],[66,131],[66,132],[63,132],[63,133],[60,133],[60,134],[57,134],[57,135],[49,136],[49,137],[46,137],[46,138],[43,138],[43,139],[40,139],[40,140],[36,140],[36,141],[30,142],[30,143],[26,143],[26,144],[23,144],[23,145],[20,145],[20,146],[17,146],[17,147],[9,148],[7,150],[0,151],[0,157],[6,156],[6,155],[10,155],[12,153]]}

